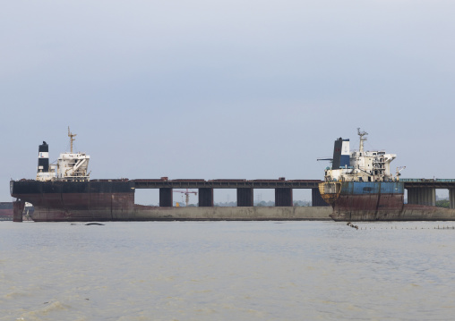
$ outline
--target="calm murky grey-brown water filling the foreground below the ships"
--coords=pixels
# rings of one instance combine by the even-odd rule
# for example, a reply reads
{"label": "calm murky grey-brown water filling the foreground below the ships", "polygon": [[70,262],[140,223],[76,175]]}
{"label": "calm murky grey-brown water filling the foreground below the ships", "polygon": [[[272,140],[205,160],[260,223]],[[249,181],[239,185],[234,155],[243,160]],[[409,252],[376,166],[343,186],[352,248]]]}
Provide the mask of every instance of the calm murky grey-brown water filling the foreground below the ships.
{"label": "calm murky grey-brown water filling the foreground below the ships", "polygon": [[1,222],[0,320],[448,320],[451,224]]}

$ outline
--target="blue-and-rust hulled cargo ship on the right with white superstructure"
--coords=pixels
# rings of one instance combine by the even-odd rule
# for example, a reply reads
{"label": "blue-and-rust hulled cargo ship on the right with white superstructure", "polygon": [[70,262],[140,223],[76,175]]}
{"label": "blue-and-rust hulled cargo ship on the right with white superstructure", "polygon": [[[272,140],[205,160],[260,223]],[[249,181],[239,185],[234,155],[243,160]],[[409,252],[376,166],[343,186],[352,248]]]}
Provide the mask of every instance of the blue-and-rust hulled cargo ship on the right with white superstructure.
{"label": "blue-and-rust hulled cargo ship on the right with white superstructure", "polygon": [[382,150],[365,151],[367,132],[357,129],[359,149],[351,151],[349,139],[336,139],[331,167],[326,167],[319,190],[333,208],[335,221],[428,221],[454,220],[455,210],[405,204],[404,182],[399,181],[405,166],[391,173],[395,154]]}

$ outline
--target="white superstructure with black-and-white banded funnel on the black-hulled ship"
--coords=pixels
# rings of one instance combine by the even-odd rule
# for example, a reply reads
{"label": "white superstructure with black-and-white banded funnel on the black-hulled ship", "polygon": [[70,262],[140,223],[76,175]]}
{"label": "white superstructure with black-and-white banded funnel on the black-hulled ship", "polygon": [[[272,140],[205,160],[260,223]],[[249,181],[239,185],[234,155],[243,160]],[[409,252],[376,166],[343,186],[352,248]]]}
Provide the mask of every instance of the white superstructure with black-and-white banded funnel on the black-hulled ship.
{"label": "white superstructure with black-and-white banded funnel on the black-hulled ship", "polygon": [[43,141],[43,145],[39,146],[37,181],[90,181],[90,156],[81,152],[73,153],[74,136],[68,128],[71,151],[60,154],[54,165],[48,164],[48,145]]}

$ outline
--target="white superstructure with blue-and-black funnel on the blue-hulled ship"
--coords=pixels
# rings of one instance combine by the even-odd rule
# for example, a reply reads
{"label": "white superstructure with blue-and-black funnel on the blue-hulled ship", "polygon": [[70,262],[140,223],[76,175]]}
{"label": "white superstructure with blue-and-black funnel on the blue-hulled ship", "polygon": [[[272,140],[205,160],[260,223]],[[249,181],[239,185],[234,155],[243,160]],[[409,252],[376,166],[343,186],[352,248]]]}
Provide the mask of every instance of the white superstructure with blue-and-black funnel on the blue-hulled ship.
{"label": "white superstructure with blue-and-black funnel on the blue-hulled ship", "polygon": [[385,151],[365,151],[365,131],[357,129],[360,137],[358,151],[349,151],[349,139],[335,141],[332,167],[325,170],[326,182],[396,182],[397,176],[391,174],[391,161],[395,154],[386,154]]}

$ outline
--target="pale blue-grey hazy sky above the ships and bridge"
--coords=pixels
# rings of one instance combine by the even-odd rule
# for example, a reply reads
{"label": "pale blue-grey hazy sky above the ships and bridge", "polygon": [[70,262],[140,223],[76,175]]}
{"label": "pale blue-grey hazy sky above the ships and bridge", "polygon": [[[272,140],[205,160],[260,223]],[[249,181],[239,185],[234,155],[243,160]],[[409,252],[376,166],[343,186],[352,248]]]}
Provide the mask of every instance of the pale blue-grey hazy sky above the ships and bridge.
{"label": "pale blue-grey hazy sky above the ships and bridge", "polygon": [[4,2],[0,200],[43,140],[51,161],[69,149],[67,126],[92,179],[322,179],[316,158],[357,148],[357,127],[403,177],[455,178],[454,16],[452,0]]}

